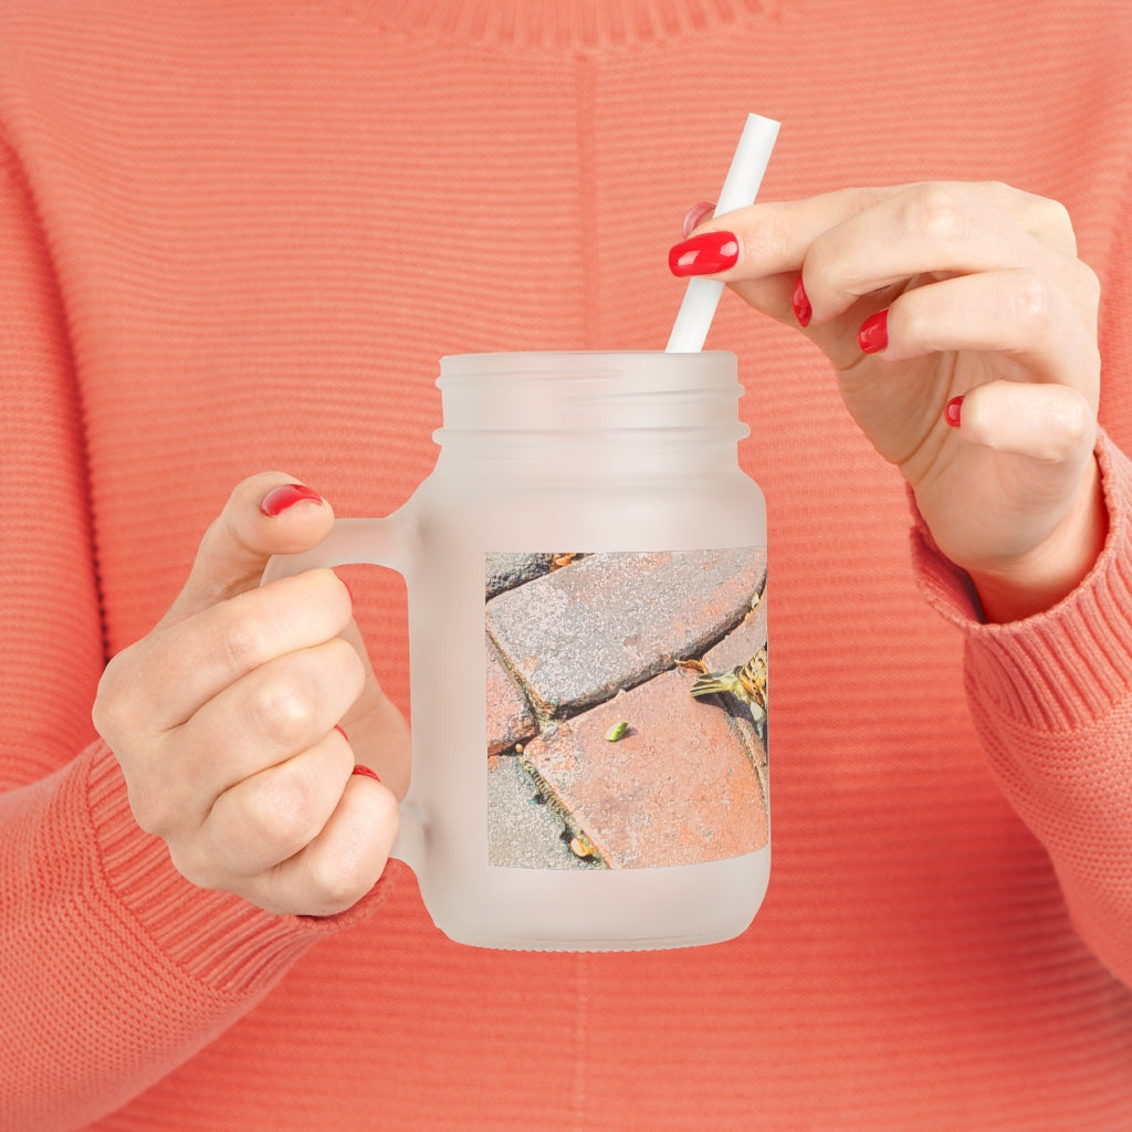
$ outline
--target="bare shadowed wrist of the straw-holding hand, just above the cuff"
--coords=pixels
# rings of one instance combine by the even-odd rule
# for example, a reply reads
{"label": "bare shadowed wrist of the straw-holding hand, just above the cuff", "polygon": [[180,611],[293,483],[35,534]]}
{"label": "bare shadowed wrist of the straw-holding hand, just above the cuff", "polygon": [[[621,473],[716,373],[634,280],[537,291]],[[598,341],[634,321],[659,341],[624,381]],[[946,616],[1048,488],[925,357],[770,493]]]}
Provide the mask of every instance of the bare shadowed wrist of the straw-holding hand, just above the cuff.
{"label": "bare shadowed wrist of the straw-holding hand, just above the cuff", "polygon": [[1108,508],[1094,458],[1073,507],[1041,543],[995,568],[967,568],[988,623],[1022,620],[1069,597],[1092,569],[1108,534]]}

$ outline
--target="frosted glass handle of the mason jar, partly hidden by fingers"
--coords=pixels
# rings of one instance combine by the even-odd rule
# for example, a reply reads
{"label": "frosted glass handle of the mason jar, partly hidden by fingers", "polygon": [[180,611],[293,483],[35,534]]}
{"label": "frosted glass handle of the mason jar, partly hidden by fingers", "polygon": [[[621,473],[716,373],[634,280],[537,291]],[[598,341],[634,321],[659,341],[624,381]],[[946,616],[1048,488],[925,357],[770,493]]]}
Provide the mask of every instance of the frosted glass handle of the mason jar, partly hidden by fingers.
{"label": "frosted glass handle of the mason jar, partly hidden by fingers", "polygon": [[[386,518],[338,518],[331,533],[310,550],[297,555],[275,555],[264,569],[259,584],[301,574],[319,566],[386,566],[409,580],[411,548],[408,526],[401,512]],[[404,861],[418,876],[424,864],[424,814],[412,800],[412,790],[401,803],[401,826],[389,852]]]}

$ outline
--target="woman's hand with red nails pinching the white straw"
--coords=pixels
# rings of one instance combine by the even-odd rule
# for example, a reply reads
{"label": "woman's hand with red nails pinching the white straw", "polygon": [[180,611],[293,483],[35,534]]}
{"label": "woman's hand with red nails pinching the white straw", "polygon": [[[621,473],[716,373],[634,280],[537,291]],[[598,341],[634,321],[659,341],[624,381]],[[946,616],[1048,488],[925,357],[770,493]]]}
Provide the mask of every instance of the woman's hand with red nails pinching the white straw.
{"label": "woman's hand with red nails pinching the white straw", "polygon": [[1099,285],[1065,208],[996,183],[846,189],[715,217],[670,255],[798,326],[989,620],[1088,573]]}

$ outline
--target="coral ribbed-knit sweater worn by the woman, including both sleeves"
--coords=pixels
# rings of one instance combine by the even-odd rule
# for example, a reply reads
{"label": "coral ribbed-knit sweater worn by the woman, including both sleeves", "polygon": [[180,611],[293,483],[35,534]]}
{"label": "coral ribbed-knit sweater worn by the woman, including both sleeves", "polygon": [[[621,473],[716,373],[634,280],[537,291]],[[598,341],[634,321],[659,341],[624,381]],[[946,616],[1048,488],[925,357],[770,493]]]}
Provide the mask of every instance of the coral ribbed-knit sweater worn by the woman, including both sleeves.
{"label": "coral ribbed-knit sweater worn by the woman, including both sleeves", "polygon": [[[1130,32],[1124,0],[0,0],[0,1127],[1127,1132]],[[1067,205],[1105,288],[1090,577],[980,625],[821,355],[726,294],[771,516],[751,929],[511,953],[400,865],[328,920],[185,882],[92,728],[106,657],[246,475],[408,498],[439,355],[662,346],[748,110],[783,122],[766,199]],[[400,580],[351,584],[408,710]]]}

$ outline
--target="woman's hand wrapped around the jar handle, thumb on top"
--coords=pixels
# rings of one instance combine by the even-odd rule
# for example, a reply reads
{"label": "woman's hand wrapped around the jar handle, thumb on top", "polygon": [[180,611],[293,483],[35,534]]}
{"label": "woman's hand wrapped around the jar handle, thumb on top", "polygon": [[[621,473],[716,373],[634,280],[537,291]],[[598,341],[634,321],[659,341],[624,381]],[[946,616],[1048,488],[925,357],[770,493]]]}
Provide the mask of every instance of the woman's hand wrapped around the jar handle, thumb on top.
{"label": "woman's hand wrapped around the jar handle, thumb on top", "polygon": [[[138,824],[177,869],[277,914],[328,916],[365,895],[408,784],[408,728],[348,589],[329,569],[259,585],[272,555],[316,546],[333,518],[281,473],[241,483],[185,589],[109,663],[94,705]],[[354,774],[353,746],[388,786]]]}

